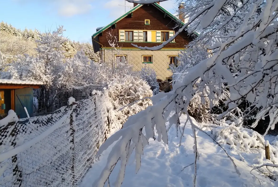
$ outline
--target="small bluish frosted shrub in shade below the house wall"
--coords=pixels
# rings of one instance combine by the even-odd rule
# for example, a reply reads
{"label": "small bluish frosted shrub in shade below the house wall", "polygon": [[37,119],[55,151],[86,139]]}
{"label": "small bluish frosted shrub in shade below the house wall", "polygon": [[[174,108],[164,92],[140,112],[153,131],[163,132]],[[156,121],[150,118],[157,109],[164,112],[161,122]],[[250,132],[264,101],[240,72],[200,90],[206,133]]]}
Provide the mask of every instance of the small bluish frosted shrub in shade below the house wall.
{"label": "small bluish frosted shrub in shade below the house wall", "polygon": [[147,81],[150,85],[153,95],[159,93],[159,84],[157,82],[157,75],[155,73],[155,70],[151,67],[148,67],[145,65],[145,67],[142,67],[141,71],[139,71],[140,76],[143,80]]}

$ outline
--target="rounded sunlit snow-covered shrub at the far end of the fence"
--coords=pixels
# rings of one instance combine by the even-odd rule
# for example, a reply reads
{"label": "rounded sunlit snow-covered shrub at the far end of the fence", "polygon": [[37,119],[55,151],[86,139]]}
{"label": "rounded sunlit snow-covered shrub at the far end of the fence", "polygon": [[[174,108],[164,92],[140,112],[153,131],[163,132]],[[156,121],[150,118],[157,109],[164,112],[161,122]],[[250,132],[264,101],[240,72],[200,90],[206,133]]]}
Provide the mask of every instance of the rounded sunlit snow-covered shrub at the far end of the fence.
{"label": "rounded sunlit snow-covered shrub at the far end of the fence", "polygon": [[138,77],[127,75],[124,79],[114,79],[107,90],[114,110],[118,111],[116,116],[121,124],[125,123],[129,116],[152,105],[150,99],[143,99],[152,97],[152,90],[146,81]]}

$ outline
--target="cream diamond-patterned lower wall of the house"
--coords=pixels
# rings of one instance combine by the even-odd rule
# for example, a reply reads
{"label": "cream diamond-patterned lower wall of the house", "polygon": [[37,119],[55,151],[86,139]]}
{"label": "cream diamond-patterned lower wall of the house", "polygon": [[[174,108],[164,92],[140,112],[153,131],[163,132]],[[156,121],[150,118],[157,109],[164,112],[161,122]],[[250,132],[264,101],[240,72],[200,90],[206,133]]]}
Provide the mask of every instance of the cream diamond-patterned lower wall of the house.
{"label": "cream diamond-patterned lower wall of the house", "polygon": [[126,55],[128,63],[133,64],[134,70],[140,70],[145,66],[142,63],[142,55],[152,55],[152,64],[146,64],[146,66],[152,67],[157,73],[157,78],[166,80],[167,77],[172,76],[171,70],[167,69],[168,58],[167,55],[178,55],[180,50],[120,50],[120,52],[112,52],[111,50],[104,50],[105,61],[109,61],[111,58],[115,58],[115,55]]}

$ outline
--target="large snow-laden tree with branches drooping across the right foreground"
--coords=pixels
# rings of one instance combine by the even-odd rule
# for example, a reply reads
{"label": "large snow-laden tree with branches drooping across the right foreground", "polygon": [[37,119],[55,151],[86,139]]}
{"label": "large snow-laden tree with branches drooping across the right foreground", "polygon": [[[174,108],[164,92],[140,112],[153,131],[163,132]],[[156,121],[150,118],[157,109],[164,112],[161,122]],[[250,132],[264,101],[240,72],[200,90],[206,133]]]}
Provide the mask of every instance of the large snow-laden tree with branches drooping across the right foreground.
{"label": "large snow-laden tree with branches drooping across the right foreground", "polygon": [[[134,3],[154,3],[152,0],[127,0]],[[188,3],[190,3],[188,1]],[[251,6],[247,7],[250,3]],[[227,14],[227,19],[219,20],[227,6],[234,9],[234,13]],[[237,19],[239,11],[245,14],[239,17],[240,21],[232,23],[231,20]],[[259,13],[258,13],[259,12]],[[154,96],[153,106],[136,115],[130,116],[123,129],[113,134],[100,147],[97,154],[99,156],[103,150],[115,142],[108,161],[102,171],[98,183],[95,186],[104,186],[111,171],[116,163],[120,160],[120,171],[116,179],[116,186],[120,186],[125,173],[125,166],[130,158],[131,153],[135,152],[136,171],[140,168],[140,157],[143,154],[143,148],[148,144],[148,140],[153,138],[154,129],[158,133],[158,141],[168,143],[167,129],[165,122],[168,117],[170,126],[178,124],[178,117],[184,112],[191,123],[195,145],[193,184],[195,186],[197,175],[197,160],[199,157],[196,143],[195,129],[202,131],[191,120],[188,115],[188,105],[191,99],[198,92],[202,93],[203,98],[207,98],[211,103],[217,99],[219,94],[229,89],[229,95],[225,104],[227,110],[222,112],[218,119],[231,113],[242,102],[242,98],[250,101],[252,106],[259,108],[257,120],[266,115],[270,116],[268,129],[274,128],[278,116],[278,99],[277,99],[277,68],[278,68],[278,50],[277,31],[278,31],[278,2],[266,0],[214,0],[214,1],[194,1],[192,7],[185,15],[190,14],[190,21],[182,26],[173,37],[161,45],[155,47],[139,47],[140,49],[159,50],[167,43],[171,42],[181,31],[194,22],[195,25],[191,31],[198,27],[209,29],[216,22],[220,25],[214,28],[216,31],[224,26],[234,25],[235,30],[230,33],[219,32],[219,35],[225,40],[215,40],[213,46],[208,49],[213,50],[211,57],[195,63],[196,65],[187,69],[180,82],[173,85],[173,91],[169,93],[157,94],[161,99]],[[231,25],[229,25],[231,23]],[[230,65],[237,65],[237,75],[230,71]],[[218,93],[218,94],[215,94]],[[162,96],[162,97],[161,97]],[[203,103],[205,99],[201,100]],[[247,110],[249,110],[248,108]],[[170,116],[170,113],[175,114]],[[257,121],[253,127],[257,125]],[[178,126],[176,125],[178,128]],[[145,129],[145,132],[143,131]],[[228,156],[229,157],[229,156]],[[235,170],[239,171],[231,157]]]}

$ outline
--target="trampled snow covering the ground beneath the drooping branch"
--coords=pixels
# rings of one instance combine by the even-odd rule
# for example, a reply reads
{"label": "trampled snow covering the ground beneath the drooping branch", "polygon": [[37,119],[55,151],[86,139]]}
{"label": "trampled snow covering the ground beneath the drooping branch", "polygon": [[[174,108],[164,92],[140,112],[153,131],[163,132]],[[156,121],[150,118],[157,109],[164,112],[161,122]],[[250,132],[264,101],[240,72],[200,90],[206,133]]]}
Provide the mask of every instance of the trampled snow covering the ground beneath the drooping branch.
{"label": "trampled snow covering the ground beneath the drooping branch", "polygon": [[[186,116],[180,117],[181,124],[186,121]],[[185,128],[185,137],[182,139],[182,145],[179,147],[180,138],[176,137],[176,129],[172,127],[169,130],[169,143],[164,144],[150,140],[150,145],[144,149],[142,156],[141,168],[135,174],[135,161],[130,159],[129,165],[126,167],[125,179],[122,187],[186,187],[193,184],[193,137],[191,126],[188,123]],[[239,176],[234,169],[232,162],[227,158],[224,151],[217,146],[203,132],[197,134],[197,148],[200,154],[200,160],[197,161],[197,185],[198,187],[254,187],[254,186],[278,186],[278,181],[270,180],[262,175],[258,175],[257,171],[252,171],[259,180],[254,180],[250,171],[255,158],[252,155],[244,154],[245,161],[240,161],[238,153],[228,151],[234,159],[241,175]],[[80,187],[92,187],[93,182],[98,179],[101,170],[106,164],[107,156],[111,150],[111,146],[100,157],[100,161],[93,164],[83,179]],[[227,149],[226,149],[227,150]],[[134,155],[131,155],[134,158]],[[118,164],[117,164],[118,165]],[[249,166],[248,166],[249,165]],[[110,175],[110,185],[116,179],[119,167],[115,167]]]}

